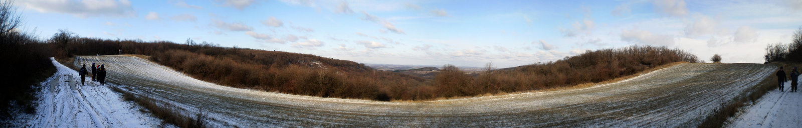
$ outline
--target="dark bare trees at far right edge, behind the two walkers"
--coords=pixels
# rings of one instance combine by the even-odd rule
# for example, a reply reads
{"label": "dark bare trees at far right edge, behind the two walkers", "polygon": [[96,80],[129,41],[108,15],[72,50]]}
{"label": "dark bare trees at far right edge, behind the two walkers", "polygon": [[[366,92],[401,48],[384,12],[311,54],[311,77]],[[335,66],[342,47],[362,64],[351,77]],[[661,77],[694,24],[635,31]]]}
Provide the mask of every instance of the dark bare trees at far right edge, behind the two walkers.
{"label": "dark bare trees at far right edge, behind the two walkers", "polygon": [[766,46],[764,59],[766,64],[776,61],[802,62],[802,27],[794,31],[794,35],[791,37],[791,44],[785,45],[778,42]]}

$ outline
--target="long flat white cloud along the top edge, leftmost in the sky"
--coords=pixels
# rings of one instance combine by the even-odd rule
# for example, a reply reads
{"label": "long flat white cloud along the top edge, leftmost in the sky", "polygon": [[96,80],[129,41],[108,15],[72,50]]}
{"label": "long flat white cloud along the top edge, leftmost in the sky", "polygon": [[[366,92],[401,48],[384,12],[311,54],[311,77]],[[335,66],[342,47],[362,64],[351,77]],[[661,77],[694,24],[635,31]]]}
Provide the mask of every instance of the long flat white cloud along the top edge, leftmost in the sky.
{"label": "long flat white cloud along the top edge, leftmost in the sky", "polygon": [[136,11],[128,0],[26,0],[19,3],[42,13],[72,14],[75,17],[136,17]]}

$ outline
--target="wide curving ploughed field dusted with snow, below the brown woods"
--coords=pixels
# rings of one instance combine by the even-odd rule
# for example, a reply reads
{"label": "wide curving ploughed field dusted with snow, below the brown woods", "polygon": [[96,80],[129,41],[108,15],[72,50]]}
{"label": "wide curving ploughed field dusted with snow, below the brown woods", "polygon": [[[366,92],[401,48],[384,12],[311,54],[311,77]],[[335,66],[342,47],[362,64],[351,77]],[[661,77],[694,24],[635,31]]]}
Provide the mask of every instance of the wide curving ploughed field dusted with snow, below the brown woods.
{"label": "wide curving ploughed field dusted with snow, below the brown woods", "polygon": [[770,76],[768,64],[679,64],[594,87],[431,102],[329,99],[224,87],[133,56],[78,56],[106,64],[108,81],[216,127],[524,126],[691,127]]}

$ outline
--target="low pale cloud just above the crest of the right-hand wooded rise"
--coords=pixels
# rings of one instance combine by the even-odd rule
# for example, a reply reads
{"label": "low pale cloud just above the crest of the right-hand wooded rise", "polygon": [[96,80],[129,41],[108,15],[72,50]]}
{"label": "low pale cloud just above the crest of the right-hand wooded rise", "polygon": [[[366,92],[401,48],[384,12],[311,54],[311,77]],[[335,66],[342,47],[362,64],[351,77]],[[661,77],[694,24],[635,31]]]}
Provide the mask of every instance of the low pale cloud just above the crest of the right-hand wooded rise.
{"label": "low pale cloud just above the crest of the right-hand wooded rise", "polygon": [[638,28],[622,30],[621,41],[645,45],[674,45],[674,37],[670,35],[658,35],[646,30],[639,30]]}

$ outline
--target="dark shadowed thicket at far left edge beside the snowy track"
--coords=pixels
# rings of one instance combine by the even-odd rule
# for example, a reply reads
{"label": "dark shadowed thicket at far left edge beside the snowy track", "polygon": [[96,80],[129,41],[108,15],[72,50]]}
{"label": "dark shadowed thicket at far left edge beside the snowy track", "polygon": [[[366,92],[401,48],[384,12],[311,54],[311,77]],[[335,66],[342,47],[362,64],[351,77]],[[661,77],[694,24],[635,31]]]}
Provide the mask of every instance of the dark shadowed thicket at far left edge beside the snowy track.
{"label": "dark shadowed thicket at far left edge beside the snowy track", "polygon": [[10,118],[9,110],[33,112],[32,85],[55,72],[51,46],[22,32],[21,19],[10,1],[0,1],[0,127]]}

